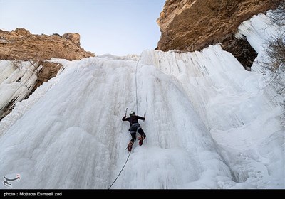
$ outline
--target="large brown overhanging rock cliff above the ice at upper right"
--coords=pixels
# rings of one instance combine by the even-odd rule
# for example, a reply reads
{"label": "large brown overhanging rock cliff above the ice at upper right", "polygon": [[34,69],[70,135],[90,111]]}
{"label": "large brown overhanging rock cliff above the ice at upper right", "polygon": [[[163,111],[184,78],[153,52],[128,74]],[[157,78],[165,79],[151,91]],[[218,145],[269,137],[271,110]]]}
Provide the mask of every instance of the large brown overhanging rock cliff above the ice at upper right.
{"label": "large brown overhanging rock cliff above the ice at upper right", "polygon": [[244,68],[250,67],[256,52],[234,33],[243,21],[277,5],[275,0],[167,0],[157,19],[157,50],[195,51],[222,43]]}

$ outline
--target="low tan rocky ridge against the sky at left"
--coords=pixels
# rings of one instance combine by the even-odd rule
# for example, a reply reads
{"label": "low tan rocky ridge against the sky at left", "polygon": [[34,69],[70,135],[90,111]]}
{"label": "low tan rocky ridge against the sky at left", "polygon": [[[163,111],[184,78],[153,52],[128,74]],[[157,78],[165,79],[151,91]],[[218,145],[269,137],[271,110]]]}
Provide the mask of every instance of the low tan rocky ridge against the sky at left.
{"label": "low tan rocky ridge against the sky at left", "polygon": [[0,60],[79,60],[93,56],[94,53],[81,48],[78,33],[47,36],[33,35],[24,28],[11,32],[0,30]]}

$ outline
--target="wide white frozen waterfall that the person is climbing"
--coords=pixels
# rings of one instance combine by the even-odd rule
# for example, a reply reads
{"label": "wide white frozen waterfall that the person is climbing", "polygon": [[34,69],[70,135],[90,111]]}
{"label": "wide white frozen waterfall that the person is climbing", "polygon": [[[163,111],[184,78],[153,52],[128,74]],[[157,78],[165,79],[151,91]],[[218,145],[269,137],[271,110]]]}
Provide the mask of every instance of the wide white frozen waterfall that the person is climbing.
{"label": "wide white frozen waterfall that the person is climbing", "polygon": [[285,188],[281,99],[219,45],[53,62],[64,70],[0,123],[13,188],[109,188],[128,158],[127,107],[146,112],[147,138],[112,188]]}

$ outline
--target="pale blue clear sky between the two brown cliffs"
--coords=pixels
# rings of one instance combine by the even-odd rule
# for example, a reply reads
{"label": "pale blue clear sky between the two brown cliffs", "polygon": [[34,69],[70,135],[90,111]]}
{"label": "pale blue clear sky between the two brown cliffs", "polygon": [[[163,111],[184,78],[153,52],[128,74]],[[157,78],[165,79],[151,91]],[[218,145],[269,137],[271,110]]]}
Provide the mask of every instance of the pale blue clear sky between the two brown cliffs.
{"label": "pale blue clear sky between the two brown cliffs", "polygon": [[140,54],[160,39],[157,18],[165,0],[11,1],[1,0],[4,31],[33,34],[79,33],[81,47],[96,55]]}

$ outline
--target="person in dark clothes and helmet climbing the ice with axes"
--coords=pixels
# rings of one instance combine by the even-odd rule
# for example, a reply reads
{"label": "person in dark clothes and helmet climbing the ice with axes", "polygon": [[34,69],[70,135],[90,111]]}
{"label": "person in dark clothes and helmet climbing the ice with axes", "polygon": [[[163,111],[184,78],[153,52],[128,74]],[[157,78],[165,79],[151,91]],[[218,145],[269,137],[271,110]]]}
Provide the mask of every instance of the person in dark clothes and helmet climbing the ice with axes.
{"label": "person in dark clothes and helmet climbing the ice with axes", "polygon": [[140,124],[138,124],[138,119],[142,119],[143,121],[145,121],[145,117],[140,117],[138,115],[135,115],[135,112],[130,112],[130,117],[127,117],[126,114],[125,116],[122,118],[123,121],[128,121],[130,122],[130,135],[132,136],[132,139],[130,140],[130,143],[128,144],[128,151],[132,150],[133,147],[133,143],[135,141],[135,134],[138,133],[140,134],[140,136],[138,137],[139,140],[139,145],[142,145],[142,141],[145,139],[146,135],[145,133],[142,131],[142,127],[140,127]]}

